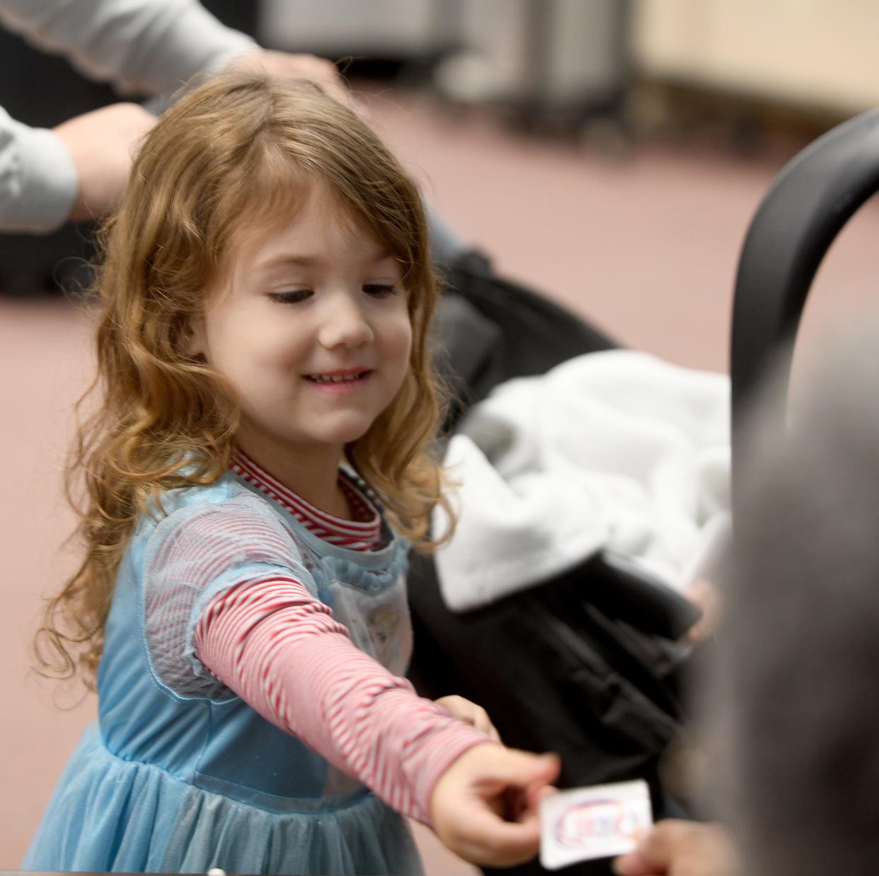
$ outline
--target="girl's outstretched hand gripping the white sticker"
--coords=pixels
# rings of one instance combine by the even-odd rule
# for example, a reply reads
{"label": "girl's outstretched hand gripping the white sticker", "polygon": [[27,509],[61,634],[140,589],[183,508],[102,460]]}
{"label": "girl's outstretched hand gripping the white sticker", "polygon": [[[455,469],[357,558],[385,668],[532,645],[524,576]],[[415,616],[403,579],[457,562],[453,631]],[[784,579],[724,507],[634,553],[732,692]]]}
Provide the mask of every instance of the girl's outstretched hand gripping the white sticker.
{"label": "girl's outstretched hand gripping the white sticker", "polygon": [[505,867],[534,858],[541,844],[538,804],[555,791],[551,783],[559,769],[556,755],[495,742],[469,748],[433,788],[434,833],[476,865]]}

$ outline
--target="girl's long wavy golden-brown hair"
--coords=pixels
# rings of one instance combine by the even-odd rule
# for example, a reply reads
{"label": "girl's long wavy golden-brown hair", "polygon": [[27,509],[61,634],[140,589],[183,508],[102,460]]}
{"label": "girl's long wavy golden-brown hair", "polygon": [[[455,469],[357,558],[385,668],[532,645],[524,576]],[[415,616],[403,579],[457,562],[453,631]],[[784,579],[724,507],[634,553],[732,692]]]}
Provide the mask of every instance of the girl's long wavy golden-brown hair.
{"label": "girl's long wavy golden-brown hair", "polygon": [[[437,281],[418,188],[374,131],[315,85],[216,77],[147,135],[125,199],[101,231],[98,372],[76,405],[68,470],[85,556],[47,603],[36,639],[44,674],[70,677],[78,667],[93,688],[138,516],[161,508],[164,491],[212,483],[228,468],[239,422],[234,394],[185,352],[186,326],[203,310],[204,290],[236,237],[267,227],[315,184],[403,268],[410,367],[396,398],[346,454],[395,528],[418,550],[436,544],[429,521],[443,502],[432,454],[442,392],[428,325]],[[96,397],[97,410],[79,424]]]}

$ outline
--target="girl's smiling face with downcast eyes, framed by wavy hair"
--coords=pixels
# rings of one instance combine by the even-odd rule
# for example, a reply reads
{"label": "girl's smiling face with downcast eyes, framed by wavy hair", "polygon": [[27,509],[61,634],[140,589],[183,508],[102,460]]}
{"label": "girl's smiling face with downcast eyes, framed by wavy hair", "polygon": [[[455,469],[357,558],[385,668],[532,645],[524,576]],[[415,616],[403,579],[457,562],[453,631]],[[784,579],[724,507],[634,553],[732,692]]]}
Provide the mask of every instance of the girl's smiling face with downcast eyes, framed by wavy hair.
{"label": "girl's smiling face with downcast eyes, framed by wavy hair", "polygon": [[236,248],[189,348],[234,385],[243,449],[338,463],[367,432],[409,367],[402,279],[323,186]]}

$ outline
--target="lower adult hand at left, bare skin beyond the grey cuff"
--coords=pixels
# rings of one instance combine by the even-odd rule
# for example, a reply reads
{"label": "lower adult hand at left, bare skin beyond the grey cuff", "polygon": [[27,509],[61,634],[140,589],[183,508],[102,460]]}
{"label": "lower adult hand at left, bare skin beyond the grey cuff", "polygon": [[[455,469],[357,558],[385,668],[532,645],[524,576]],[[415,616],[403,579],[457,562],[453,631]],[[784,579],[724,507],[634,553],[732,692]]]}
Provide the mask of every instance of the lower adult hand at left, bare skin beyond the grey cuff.
{"label": "lower adult hand at left, bare skin beyond the grey cuff", "polygon": [[156,116],[142,106],[118,103],[74,116],[54,128],[76,167],[78,188],[71,219],[94,219],[119,203],[134,152],[155,124]]}

